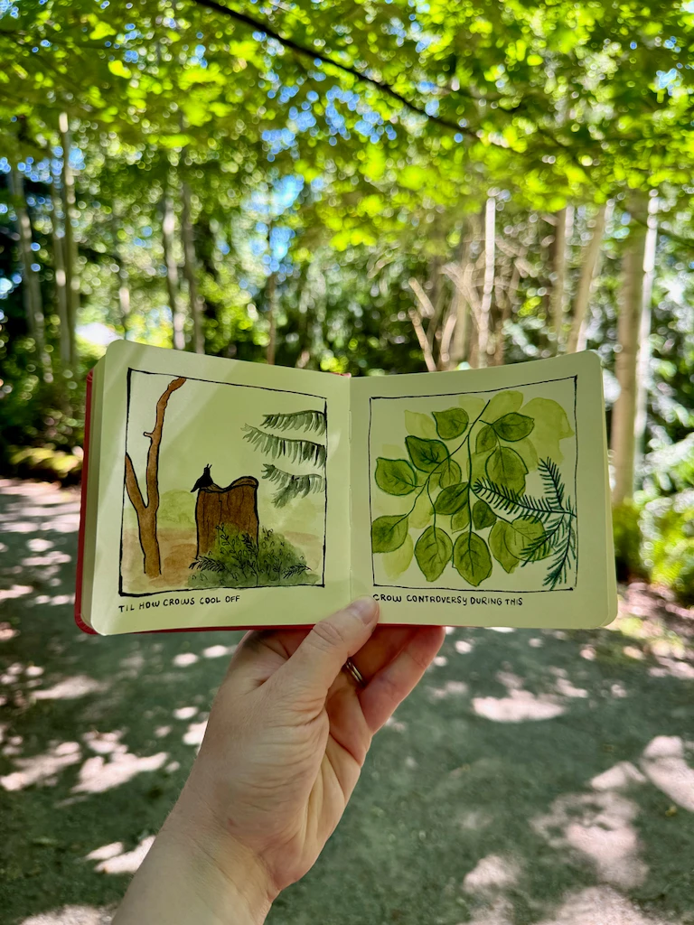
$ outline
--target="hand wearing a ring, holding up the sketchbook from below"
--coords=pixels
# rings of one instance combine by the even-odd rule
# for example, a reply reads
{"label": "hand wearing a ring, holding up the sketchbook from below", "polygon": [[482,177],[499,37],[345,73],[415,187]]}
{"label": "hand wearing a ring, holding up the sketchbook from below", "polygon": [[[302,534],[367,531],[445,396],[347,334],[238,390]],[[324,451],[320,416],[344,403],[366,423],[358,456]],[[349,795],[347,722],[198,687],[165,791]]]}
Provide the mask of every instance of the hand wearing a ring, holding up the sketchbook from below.
{"label": "hand wearing a ring, holding up the sketchbook from below", "polygon": [[[250,633],[231,660],[200,754],[159,839],[166,833],[177,852],[187,845],[197,869],[214,871],[247,920],[262,921],[279,891],[314,864],[373,734],[443,641],[438,626],[377,628],[377,620],[378,605],[363,598],[310,632]],[[350,657],[363,688],[341,671]],[[209,884],[204,892],[209,907]],[[218,919],[208,920],[224,920],[223,908],[223,901],[215,904]]]}

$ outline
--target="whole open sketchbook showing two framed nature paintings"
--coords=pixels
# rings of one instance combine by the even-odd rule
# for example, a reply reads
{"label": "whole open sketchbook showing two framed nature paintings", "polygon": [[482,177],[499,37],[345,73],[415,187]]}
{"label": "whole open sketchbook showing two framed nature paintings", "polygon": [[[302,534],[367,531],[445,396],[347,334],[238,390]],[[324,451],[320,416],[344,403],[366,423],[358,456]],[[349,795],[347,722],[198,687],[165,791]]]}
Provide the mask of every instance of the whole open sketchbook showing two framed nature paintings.
{"label": "whole open sketchbook showing two framed nature paintings", "polygon": [[350,379],[116,341],[87,423],[87,632],[616,614],[594,354]]}

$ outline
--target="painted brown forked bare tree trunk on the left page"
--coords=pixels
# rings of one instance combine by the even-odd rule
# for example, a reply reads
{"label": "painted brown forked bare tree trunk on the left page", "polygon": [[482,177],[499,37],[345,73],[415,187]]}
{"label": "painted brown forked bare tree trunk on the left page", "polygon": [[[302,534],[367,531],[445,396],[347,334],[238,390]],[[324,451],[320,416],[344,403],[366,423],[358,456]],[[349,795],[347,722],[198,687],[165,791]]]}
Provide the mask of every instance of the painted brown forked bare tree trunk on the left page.
{"label": "painted brown forked bare tree trunk on the left page", "polygon": [[130,503],[137,514],[137,527],[140,534],[140,546],[144,556],[144,573],[148,578],[156,578],[161,574],[161,558],[159,555],[159,539],[156,535],[156,512],[159,510],[159,448],[164,431],[164,415],[167,411],[168,400],[171,394],[185,382],[180,376],[169,382],[166,391],[156,402],[155,426],[151,431],[144,432],[144,437],[150,439],[147,450],[147,465],[144,481],[147,488],[147,501],[135,475],[135,469],[130,454],[125,454],[125,487]]}

